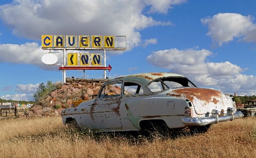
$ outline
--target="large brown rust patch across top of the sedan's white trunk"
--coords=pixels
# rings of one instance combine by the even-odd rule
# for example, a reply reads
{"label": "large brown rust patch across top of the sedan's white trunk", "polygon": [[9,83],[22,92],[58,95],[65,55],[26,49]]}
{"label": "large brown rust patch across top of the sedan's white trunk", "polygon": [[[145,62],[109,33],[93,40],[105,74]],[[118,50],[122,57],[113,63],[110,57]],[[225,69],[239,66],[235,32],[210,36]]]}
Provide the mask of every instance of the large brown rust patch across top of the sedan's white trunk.
{"label": "large brown rust patch across top of the sedan's white trunk", "polygon": [[[207,103],[212,101],[212,97],[219,98],[222,96],[220,91],[213,90],[213,89],[204,89],[204,88],[185,88],[185,89],[176,89],[173,90],[175,94],[169,94],[170,96],[173,95],[184,95],[187,99],[193,102],[194,97],[200,100],[204,100]],[[217,101],[217,100],[216,100]]]}

